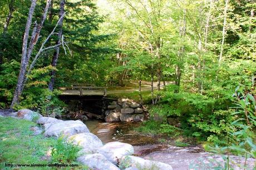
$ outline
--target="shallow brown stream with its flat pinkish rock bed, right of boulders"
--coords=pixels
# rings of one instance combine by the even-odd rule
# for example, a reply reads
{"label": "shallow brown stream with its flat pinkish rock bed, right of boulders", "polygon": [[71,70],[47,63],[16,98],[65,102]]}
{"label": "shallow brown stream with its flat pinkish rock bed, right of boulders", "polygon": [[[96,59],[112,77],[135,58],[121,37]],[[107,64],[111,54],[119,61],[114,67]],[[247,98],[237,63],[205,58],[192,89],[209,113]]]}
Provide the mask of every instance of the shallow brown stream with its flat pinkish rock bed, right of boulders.
{"label": "shallow brown stream with its flat pinkish rock bed, right of boulders", "polygon": [[[141,135],[134,130],[135,127],[140,126],[141,122],[107,123],[100,120],[87,120],[84,123],[103,143],[112,141],[129,143],[134,146],[135,156],[168,163],[174,170],[224,168],[223,156],[205,152],[200,146],[176,147],[160,143],[157,137]],[[238,156],[229,158],[234,169],[254,169],[255,159],[253,158],[247,159],[248,166],[245,168],[243,167],[244,158]]]}

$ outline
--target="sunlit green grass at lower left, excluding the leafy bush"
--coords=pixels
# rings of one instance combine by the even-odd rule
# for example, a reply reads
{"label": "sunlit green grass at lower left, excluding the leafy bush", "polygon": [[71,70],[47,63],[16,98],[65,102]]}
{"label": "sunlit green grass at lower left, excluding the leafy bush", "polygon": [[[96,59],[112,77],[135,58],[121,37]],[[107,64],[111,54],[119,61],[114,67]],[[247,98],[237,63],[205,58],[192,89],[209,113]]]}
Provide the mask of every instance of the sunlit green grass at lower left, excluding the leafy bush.
{"label": "sunlit green grass at lower left, excluding the leafy bush", "polygon": [[[12,164],[50,164],[50,152],[57,146],[55,138],[43,135],[33,136],[30,128],[36,123],[27,120],[17,120],[11,117],[0,117],[0,169],[5,163]],[[78,164],[73,163],[72,164]],[[20,169],[35,169],[24,167]],[[52,169],[40,167],[40,169]]]}

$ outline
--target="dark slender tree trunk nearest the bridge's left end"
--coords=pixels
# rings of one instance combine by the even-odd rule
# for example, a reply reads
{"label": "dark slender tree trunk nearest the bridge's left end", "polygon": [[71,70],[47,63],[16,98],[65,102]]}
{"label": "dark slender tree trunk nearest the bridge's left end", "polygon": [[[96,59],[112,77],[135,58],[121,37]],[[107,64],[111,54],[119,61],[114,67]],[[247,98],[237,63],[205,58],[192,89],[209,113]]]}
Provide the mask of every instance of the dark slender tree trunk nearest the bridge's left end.
{"label": "dark slender tree trunk nearest the bridge's left end", "polygon": [[[60,14],[59,14],[59,18],[61,18],[65,12],[65,0],[61,0],[60,2]],[[58,31],[58,40],[56,42],[56,44],[60,44],[61,43],[61,38],[62,38],[62,26],[63,26],[63,17],[61,18],[60,22],[58,23],[58,26],[60,28],[60,30]],[[53,58],[52,58],[52,66],[56,67],[57,66],[57,61],[58,61],[58,55],[60,54],[60,46],[56,47],[55,53],[53,54]],[[50,83],[48,85],[48,88],[50,91],[53,90],[53,86],[54,86],[54,82],[55,82],[55,75],[56,75],[56,70],[52,70],[51,71],[51,80]]]}

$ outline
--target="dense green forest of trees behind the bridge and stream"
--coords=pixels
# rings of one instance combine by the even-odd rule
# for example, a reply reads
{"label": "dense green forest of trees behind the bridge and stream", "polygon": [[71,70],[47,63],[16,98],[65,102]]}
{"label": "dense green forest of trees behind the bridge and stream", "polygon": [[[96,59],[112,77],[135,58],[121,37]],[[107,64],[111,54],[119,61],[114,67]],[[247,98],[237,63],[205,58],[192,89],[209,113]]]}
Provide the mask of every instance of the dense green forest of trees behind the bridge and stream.
{"label": "dense green forest of trees behind the bridge and stream", "polygon": [[[254,0],[38,0],[24,65],[31,2],[0,1],[1,109],[60,111],[58,87],[136,81],[139,88],[144,80],[157,81],[156,89],[137,94],[150,104],[150,114],[163,117],[152,128],[173,133],[176,127],[166,124],[171,117],[185,135],[216,143],[238,128],[236,120],[255,128]],[[22,66],[24,85],[17,92]]]}

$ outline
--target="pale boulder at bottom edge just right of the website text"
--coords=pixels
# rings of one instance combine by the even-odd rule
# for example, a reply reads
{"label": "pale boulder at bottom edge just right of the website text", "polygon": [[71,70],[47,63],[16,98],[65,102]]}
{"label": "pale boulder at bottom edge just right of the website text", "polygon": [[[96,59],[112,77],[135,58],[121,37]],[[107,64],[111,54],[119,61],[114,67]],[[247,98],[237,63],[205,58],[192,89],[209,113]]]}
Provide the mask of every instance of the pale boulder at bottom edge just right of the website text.
{"label": "pale boulder at bottom edge just right of the website text", "polygon": [[108,161],[107,158],[100,153],[85,154],[78,157],[77,161],[85,164],[90,169],[120,170],[117,166]]}

